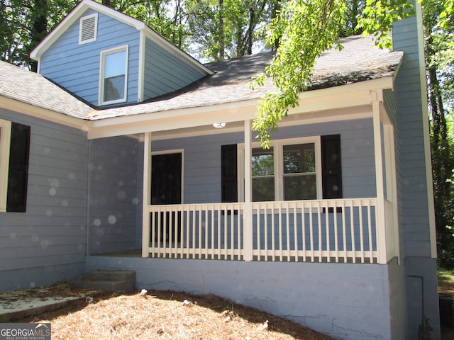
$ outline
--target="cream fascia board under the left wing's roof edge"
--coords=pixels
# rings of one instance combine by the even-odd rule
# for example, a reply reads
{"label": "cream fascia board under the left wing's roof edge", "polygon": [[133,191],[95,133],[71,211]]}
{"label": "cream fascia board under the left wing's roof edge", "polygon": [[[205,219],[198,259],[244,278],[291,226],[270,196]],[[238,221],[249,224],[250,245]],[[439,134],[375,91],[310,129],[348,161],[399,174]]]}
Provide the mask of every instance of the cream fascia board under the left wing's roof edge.
{"label": "cream fascia board under the left wing's roof edge", "polygon": [[23,113],[24,115],[29,115],[31,117],[40,118],[43,120],[49,120],[50,122],[70,126],[71,128],[76,128],[79,130],[88,130],[88,122],[82,118],[71,117],[70,115],[65,115],[60,112],[51,111],[47,108],[40,108],[38,106],[33,106],[28,103],[23,103],[22,101],[16,101],[8,97],[0,96],[0,108],[5,108],[6,110]]}

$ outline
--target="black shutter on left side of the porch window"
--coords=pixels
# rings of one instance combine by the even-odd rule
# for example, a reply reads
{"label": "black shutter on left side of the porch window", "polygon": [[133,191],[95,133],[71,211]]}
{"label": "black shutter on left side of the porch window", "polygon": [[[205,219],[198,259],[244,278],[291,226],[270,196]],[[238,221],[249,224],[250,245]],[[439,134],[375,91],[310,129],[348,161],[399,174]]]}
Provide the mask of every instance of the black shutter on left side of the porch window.
{"label": "black shutter on left side of the porch window", "polygon": [[238,202],[237,147],[221,146],[221,202]]}

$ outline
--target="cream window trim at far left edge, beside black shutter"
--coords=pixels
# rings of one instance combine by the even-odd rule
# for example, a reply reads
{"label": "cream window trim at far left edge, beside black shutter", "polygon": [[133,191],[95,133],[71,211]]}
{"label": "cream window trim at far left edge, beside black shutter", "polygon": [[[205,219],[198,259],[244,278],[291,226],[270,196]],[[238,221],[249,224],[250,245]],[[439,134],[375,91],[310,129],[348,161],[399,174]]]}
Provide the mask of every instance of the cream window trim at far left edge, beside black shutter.
{"label": "cream window trim at far left edge, beside black shutter", "polygon": [[0,212],[6,212],[11,122],[0,119]]}

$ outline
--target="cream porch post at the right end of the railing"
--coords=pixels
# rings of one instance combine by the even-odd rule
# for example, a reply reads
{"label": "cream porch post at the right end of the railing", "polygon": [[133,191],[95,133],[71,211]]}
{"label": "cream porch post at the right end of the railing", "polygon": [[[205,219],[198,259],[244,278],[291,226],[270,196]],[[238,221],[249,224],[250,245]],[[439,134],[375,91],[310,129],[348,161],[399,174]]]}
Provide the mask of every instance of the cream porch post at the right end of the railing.
{"label": "cream porch post at the right end of the railing", "polygon": [[[372,93],[372,96],[374,94]],[[375,146],[375,183],[377,184],[377,208],[375,220],[377,227],[378,263],[387,263],[386,221],[384,219],[384,181],[382,157],[382,132],[380,128],[380,102],[372,101],[372,121],[374,126]]]}

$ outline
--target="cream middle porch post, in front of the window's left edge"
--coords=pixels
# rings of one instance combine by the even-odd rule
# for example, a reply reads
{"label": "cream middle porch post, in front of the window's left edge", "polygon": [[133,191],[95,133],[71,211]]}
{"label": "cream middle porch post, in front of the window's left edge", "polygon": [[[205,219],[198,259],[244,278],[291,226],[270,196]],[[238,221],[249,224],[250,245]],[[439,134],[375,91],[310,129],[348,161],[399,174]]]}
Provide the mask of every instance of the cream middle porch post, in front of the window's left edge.
{"label": "cream middle porch post, in front of the window's left edge", "polygon": [[253,209],[252,209],[252,125],[244,122],[244,259],[253,260]]}

